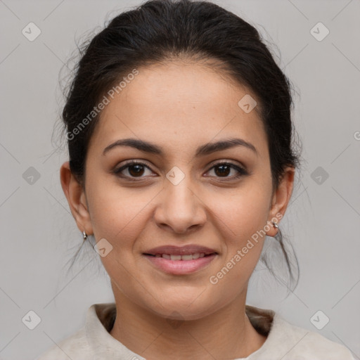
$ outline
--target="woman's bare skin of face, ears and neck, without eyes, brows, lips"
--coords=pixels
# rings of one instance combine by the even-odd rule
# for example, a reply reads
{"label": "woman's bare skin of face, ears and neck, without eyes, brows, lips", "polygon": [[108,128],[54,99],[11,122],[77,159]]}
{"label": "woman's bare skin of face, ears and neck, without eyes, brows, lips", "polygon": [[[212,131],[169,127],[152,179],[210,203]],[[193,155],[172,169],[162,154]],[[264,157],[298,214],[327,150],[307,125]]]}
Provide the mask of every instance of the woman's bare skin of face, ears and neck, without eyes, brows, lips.
{"label": "woman's bare skin of face, ears and neck, without eyes, brows, lips", "polygon": [[[245,94],[258,101],[244,86],[200,63],[169,61],[138,70],[103,110],[89,143],[86,190],[69,162],[60,169],[79,230],[113,246],[101,257],[117,306],[110,334],[146,359],[174,359],[175,352],[176,359],[249,356],[266,340],[245,314],[248,281],[265,237],[217,284],[209,278],[252,234],[285,214],[294,169],[285,169],[273,192],[263,124],[255,110],[245,113],[238,106]],[[195,157],[198,146],[230,137],[252,143],[257,154],[236,146]],[[155,143],[164,155],[128,146],[102,155],[110,143],[126,138]],[[125,160],[145,162],[150,169],[143,167],[137,176],[134,168],[122,171],[136,181],[113,174]],[[243,166],[249,174],[231,179],[238,174],[231,168],[221,175],[214,167],[220,161]],[[166,177],[174,166],[185,175],[176,186]],[[269,226],[266,235],[277,231]],[[142,254],[168,244],[204,245],[219,255],[193,274],[165,274]]]}

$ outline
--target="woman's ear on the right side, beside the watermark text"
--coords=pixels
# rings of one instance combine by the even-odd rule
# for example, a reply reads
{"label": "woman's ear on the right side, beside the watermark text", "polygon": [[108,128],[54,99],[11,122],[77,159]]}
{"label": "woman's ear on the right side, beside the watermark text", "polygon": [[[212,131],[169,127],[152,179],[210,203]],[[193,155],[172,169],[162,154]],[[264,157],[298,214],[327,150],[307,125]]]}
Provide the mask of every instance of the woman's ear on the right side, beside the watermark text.
{"label": "woman's ear on the right side, beside the watermark text", "polygon": [[278,188],[274,191],[268,219],[270,230],[266,233],[267,236],[274,237],[278,232],[278,229],[274,227],[272,221],[278,223],[285,214],[286,208],[288,207],[288,203],[291,198],[291,194],[293,193],[294,175],[295,168],[287,167],[283,177],[281,178]]}

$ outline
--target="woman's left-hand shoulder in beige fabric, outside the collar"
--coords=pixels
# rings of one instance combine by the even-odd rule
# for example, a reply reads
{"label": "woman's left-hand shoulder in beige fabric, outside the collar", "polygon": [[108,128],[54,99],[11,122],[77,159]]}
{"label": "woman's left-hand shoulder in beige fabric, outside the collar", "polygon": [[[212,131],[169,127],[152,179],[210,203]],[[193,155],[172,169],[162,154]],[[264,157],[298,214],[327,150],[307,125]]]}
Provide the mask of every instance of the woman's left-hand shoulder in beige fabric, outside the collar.
{"label": "woman's left-hand shoulder in beige fabric, outside the collar", "polygon": [[[91,349],[86,340],[85,327],[83,327],[70,337],[50,347],[44,354],[37,357],[36,360],[79,359],[78,356],[84,358],[86,355],[91,355]],[[88,359],[90,359],[90,357]]]}

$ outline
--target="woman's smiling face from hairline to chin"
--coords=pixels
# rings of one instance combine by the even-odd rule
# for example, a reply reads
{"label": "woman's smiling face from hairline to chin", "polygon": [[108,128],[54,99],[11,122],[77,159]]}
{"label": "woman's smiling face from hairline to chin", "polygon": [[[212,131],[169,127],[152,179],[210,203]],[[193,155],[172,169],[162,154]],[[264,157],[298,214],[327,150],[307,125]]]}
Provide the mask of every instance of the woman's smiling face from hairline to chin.
{"label": "woman's smiling face from hairline to chin", "polygon": [[[245,88],[194,63],[138,70],[89,143],[77,224],[101,241],[115,300],[198,319],[245,302],[265,238],[257,231],[276,234],[266,225],[285,212],[291,184],[273,196],[264,127],[238,105]],[[133,141],[108,148],[124,139]],[[125,167],[133,160],[141,165]]]}

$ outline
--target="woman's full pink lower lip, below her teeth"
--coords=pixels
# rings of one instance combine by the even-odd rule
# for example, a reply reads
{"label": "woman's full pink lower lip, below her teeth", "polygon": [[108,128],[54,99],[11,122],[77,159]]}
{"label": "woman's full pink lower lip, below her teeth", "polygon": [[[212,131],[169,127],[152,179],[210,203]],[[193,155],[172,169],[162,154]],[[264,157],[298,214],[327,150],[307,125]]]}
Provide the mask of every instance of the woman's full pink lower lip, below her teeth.
{"label": "woman's full pink lower lip, below her teeth", "polygon": [[203,269],[207,264],[210,264],[217,254],[212,254],[205,257],[199,257],[193,260],[170,260],[165,257],[155,257],[144,255],[149,261],[158,269],[167,274],[184,275],[191,274],[195,271]]}

